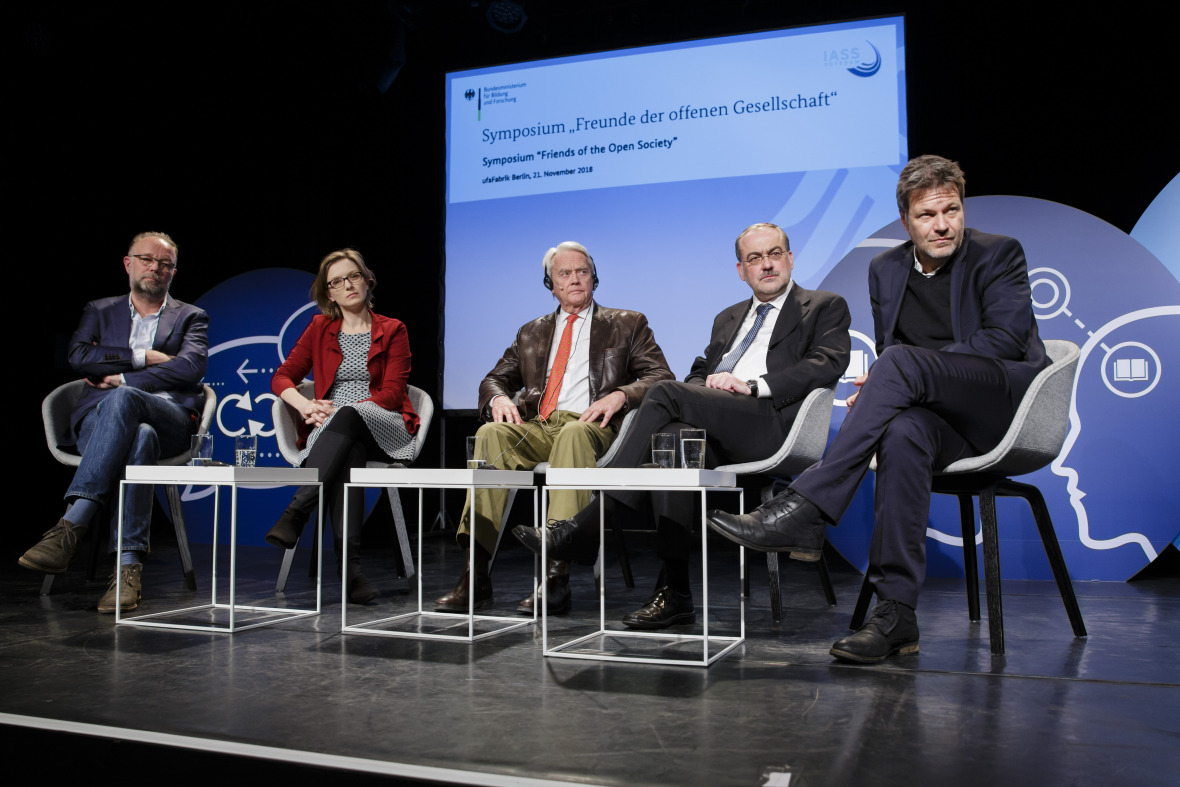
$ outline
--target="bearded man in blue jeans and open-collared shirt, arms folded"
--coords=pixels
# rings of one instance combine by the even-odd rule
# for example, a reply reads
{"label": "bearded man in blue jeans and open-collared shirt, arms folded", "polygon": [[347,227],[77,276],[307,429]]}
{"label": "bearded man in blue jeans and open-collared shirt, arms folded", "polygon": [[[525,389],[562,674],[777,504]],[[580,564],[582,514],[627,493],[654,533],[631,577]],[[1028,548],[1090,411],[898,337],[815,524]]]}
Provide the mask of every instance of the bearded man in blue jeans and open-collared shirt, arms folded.
{"label": "bearded man in blue jeans and open-collared shirt, arms folded", "polygon": [[[201,379],[208,360],[209,317],[168,294],[176,275],[176,243],[163,232],[140,232],[123,258],[131,294],[91,301],[70,340],[70,366],[86,388],[59,435],[81,464],[66,491],[61,519],[20,557],[34,571],[60,573],[78,540],[106,506],[116,550],[119,480],[127,465],[153,465],[189,447],[204,406]],[[152,487],[137,484],[124,496],[122,593],[112,577],[98,611],[139,603],[143,556],[149,551]]]}

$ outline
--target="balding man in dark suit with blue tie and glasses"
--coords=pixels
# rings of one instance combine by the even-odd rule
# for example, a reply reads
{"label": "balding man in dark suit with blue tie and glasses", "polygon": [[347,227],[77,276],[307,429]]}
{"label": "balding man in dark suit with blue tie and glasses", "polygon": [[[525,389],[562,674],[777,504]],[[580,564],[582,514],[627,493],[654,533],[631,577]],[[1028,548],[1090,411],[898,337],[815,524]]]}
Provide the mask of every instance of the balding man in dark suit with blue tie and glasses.
{"label": "balding man in dark suit with blue tie and glasses", "polygon": [[[804,289],[791,280],[794,256],[787,234],[775,224],[753,224],[734,243],[738,277],[753,297],[713,321],[704,355],[684,382],[660,382],[640,406],[612,467],[637,467],[650,459],[651,435],[702,428],[709,466],[765,459],[778,451],[807,394],[833,385],[848,365],[848,306],[833,293]],[[643,493],[611,493],[610,503],[637,509]],[[663,629],[695,619],[689,592],[689,533],[693,506],[687,494],[655,498],[664,584],[651,601],[623,618],[636,629]],[[616,516],[621,512],[615,509]],[[598,513],[591,505],[542,531],[517,527],[526,546],[549,555],[592,560]]]}

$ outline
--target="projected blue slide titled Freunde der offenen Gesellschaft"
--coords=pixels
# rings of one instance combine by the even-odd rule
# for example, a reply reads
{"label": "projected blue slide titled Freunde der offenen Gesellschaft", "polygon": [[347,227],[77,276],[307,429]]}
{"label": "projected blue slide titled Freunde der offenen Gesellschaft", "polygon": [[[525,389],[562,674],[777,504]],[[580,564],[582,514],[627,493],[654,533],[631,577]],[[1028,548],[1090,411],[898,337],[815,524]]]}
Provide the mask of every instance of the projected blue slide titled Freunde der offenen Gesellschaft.
{"label": "projected blue slide titled Freunde der offenen Gesellschaft", "polygon": [[542,257],[562,241],[683,378],[750,296],[742,229],[784,227],[814,287],[897,217],[899,17],[454,72],[446,91],[446,409],[476,407],[517,329],[557,308]]}

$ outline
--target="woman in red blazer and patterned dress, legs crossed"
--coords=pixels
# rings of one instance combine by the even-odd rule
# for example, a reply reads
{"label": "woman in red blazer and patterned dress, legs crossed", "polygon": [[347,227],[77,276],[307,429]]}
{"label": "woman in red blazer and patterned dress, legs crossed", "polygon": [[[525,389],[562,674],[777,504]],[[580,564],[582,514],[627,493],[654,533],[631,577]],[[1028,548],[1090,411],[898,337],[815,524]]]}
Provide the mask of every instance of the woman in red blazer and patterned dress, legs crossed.
{"label": "woman in red blazer and patterned dress, legs crossed", "polygon": [[[413,457],[418,415],[406,389],[409,340],[398,320],[371,310],[376,277],[352,249],[333,251],[320,262],[312,284],[322,315],[300,336],[270,380],[270,389],[303,419],[300,465],[321,470],[323,501],[335,536],[336,566],[342,569],[343,485],[352,467]],[[299,392],[308,372],[315,398]],[[361,490],[353,490],[348,509],[363,511]],[[303,486],[267,533],[267,542],[290,549],[316,506],[314,486]],[[378,591],[360,571],[360,526],[349,529],[348,599],[367,604]]]}

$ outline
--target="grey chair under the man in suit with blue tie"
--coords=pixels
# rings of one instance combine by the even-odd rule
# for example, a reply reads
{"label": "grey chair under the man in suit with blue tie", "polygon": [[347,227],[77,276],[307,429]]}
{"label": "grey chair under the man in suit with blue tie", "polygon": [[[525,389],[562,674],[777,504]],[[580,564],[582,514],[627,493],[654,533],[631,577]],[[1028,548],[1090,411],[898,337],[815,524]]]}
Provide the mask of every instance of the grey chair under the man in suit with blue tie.
{"label": "grey chair under the man in suit with blue tie", "polygon": [[[738,473],[739,476],[763,476],[771,483],[762,487],[761,501],[766,503],[774,497],[775,486],[779,480],[789,480],[804,472],[824,455],[827,447],[828,427],[832,424],[832,400],[834,398],[834,386],[830,388],[815,388],[804,399],[795,415],[795,422],[774,455],[761,461],[747,461],[740,465],[725,465],[717,470]],[[766,570],[771,583],[771,614],[775,623],[782,622],[782,593],[779,586],[779,553],[766,553]],[[819,557],[819,578],[824,586],[824,596],[827,603],[835,606],[835,591],[832,589],[832,579],[827,573],[827,559],[822,551]],[[749,575],[743,577],[746,583],[746,595],[749,595]]]}

